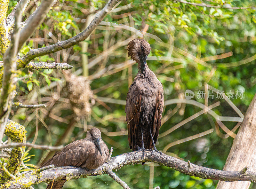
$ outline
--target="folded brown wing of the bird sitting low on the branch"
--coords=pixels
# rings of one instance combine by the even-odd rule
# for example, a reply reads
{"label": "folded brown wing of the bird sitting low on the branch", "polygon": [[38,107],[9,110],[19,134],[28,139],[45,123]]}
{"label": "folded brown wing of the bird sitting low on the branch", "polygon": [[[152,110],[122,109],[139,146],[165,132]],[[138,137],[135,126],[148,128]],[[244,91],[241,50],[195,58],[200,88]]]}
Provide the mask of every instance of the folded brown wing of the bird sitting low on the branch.
{"label": "folded brown wing of the bird sitting low on the branch", "polygon": [[[41,167],[54,164],[56,167],[62,166],[76,166],[79,167],[87,160],[89,150],[93,143],[81,139],[76,140],[67,146],[65,146],[61,151],[56,152],[52,158],[45,161]],[[95,147],[95,145],[93,145]]]}

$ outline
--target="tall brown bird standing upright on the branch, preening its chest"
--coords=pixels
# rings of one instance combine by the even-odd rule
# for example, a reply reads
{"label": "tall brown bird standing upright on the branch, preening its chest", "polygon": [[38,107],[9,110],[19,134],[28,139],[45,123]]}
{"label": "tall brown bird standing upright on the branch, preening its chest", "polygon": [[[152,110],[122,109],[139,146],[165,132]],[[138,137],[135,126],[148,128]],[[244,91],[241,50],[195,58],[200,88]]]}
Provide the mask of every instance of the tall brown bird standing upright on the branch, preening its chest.
{"label": "tall brown bird standing upright on the branch, preening its chest", "polygon": [[145,158],[145,149],[153,148],[151,155],[154,151],[159,152],[155,143],[161,126],[164,90],[162,83],[157,80],[146,62],[150,53],[149,43],[145,39],[134,39],[128,43],[127,51],[128,56],[138,63],[139,68],[129,88],[125,104],[128,140],[132,151],[143,151]]}

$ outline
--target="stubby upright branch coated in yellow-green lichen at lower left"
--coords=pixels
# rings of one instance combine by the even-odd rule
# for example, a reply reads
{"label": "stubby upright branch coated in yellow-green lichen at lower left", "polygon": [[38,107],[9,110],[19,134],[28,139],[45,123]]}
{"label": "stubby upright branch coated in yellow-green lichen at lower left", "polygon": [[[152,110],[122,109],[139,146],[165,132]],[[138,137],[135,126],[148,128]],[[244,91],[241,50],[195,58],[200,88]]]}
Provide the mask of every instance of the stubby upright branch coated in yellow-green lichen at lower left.
{"label": "stubby upright branch coated in yellow-green lichen at lower left", "polygon": [[[19,123],[13,122],[11,120],[8,120],[4,134],[7,135],[12,140],[12,142],[25,143],[27,140],[25,128]],[[12,149],[11,156],[8,159],[7,165],[5,166],[10,174],[16,174],[20,167],[20,162],[24,152],[24,146],[18,146]],[[11,177],[9,174],[7,174],[5,171],[2,171],[0,174],[0,183],[5,183],[10,178]]]}

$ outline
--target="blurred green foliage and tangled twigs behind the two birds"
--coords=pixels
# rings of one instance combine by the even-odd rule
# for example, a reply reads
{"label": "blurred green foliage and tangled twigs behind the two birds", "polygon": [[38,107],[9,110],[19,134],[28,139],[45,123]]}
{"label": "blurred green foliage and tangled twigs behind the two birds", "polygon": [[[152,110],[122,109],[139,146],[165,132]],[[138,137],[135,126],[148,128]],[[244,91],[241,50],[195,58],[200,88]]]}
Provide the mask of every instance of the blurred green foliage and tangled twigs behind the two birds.
{"label": "blurred green foliage and tangled twigs behind the two birds", "polygon": [[[182,2],[182,1],[181,1]],[[256,90],[256,12],[228,7],[255,6],[244,0],[121,1],[90,37],[69,49],[36,58],[40,62],[73,65],[68,71],[24,69],[20,73],[15,101],[23,104],[46,103],[46,108],[12,108],[10,119],[24,125],[28,142],[45,145],[68,144],[85,137],[97,127],[113,156],[130,152],[125,121],[125,99],[137,74],[137,65],[126,53],[126,45],[143,37],[151,45],[148,66],[164,88],[164,100],[184,99],[187,89],[195,92],[214,87],[220,91],[244,91],[243,98],[231,98],[245,114]],[[11,0],[9,12],[17,1]],[[44,23],[20,51],[63,41],[82,31],[102,0],[57,1]],[[189,4],[190,3],[190,4]],[[192,4],[191,4],[192,3]],[[205,3],[213,7],[195,6]],[[24,20],[40,0],[31,1]],[[208,84],[208,85],[207,85]],[[204,99],[193,100],[202,104]],[[225,99],[208,99],[208,106],[220,101],[213,111],[221,116],[239,117]],[[157,149],[166,154],[209,168],[222,169],[233,138],[219,128],[209,114],[201,114],[165,136],[161,133],[201,108],[193,104],[164,107]],[[237,122],[223,122],[232,130]],[[232,130],[235,133],[236,130]],[[206,133],[204,131],[207,131]],[[203,134],[202,134],[203,132]],[[204,135],[204,136],[202,136]],[[201,137],[200,137],[201,136]],[[188,138],[189,137],[189,138]],[[29,149],[28,167],[40,165],[52,152]],[[34,156],[30,156],[34,155]],[[215,188],[217,181],[190,177],[153,163],[126,166],[117,175],[131,188]],[[35,188],[45,188],[41,183]],[[253,187],[253,186],[251,186]],[[121,188],[107,175],[66,182],[64,188]]]}

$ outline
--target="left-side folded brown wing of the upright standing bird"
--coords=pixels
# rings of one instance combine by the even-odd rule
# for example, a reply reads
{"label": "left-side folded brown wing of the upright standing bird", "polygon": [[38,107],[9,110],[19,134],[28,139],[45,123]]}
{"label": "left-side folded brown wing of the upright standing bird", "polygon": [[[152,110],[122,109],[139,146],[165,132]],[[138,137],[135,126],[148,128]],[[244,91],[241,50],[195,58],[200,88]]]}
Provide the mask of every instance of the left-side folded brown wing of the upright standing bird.
{"label": "left-side folded brown wing of the upright standing bird", "polygon": [[134,151],[135,147],[135,133],[138,129],[139,118],[140,118],[140,105],[142,97],[142,89],[137,86],[136,79],[131,84],[129,91],[127,93],[126,104],[125,104],[125,114],[126,122],[128,125],[128,140],[130,148]]}

